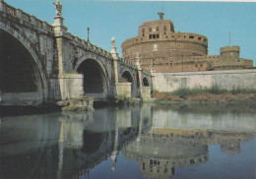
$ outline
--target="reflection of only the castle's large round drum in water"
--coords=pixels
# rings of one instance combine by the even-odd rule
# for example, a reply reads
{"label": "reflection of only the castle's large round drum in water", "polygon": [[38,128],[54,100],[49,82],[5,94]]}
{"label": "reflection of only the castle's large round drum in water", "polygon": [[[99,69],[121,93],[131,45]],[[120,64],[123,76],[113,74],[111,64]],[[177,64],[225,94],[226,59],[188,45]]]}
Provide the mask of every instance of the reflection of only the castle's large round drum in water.
{"label": "reflection of only the castle's large round drum in water", "polygon": [[124,155],[140,163],[147,177],[170,178],[175,166],[189,166],[208,160],[208,147],[186,138],[144,134],[123,149]]}

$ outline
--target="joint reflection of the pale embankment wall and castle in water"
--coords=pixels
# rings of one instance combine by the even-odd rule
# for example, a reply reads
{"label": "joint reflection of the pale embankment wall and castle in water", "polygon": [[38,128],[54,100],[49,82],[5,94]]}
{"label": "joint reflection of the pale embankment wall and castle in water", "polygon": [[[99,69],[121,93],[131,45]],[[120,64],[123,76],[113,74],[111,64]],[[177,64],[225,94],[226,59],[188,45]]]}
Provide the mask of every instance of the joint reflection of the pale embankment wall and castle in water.
{"label": "joint reflection of the pale embankment wall and castle in water", "polygon": [[[248,125],[251,119],[242,123],[234,116],[220,121],[204,114],[191,117],[157,110],[152,118],[152,128],[123,149],[127,158],[140,163],[146,177],[170,178],[175,173],[175,166],[206,162],[209,145],[221,144],[224,152],[238,154],[240,143],[253,139],[255,130],[255,126]],[[247,130],[250,132],[242,132]]]}

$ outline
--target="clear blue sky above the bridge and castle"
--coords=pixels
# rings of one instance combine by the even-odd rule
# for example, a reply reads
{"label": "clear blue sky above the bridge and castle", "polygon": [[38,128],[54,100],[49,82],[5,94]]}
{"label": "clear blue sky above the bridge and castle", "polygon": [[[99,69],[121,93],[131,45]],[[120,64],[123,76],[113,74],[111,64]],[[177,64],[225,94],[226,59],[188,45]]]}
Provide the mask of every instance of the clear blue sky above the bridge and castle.
{"label": "clear blue sky above the bridge and castle", "polygon": [[[35,17],[53,24],[53,0],[5,0]],[[106,50],[115,36],[117,50],[121,43],[138,35],[143,22],[159,20],[160,1],[83,1],[60,0],[62,16],[69,32]],[[241,2],[163,2],[164,19],[174,23],[175,31],[194,32],[209,39],[209,55],[220,54],[229,43],[241,47],[241,58],[253,59],[256,66],[256,3]]]}

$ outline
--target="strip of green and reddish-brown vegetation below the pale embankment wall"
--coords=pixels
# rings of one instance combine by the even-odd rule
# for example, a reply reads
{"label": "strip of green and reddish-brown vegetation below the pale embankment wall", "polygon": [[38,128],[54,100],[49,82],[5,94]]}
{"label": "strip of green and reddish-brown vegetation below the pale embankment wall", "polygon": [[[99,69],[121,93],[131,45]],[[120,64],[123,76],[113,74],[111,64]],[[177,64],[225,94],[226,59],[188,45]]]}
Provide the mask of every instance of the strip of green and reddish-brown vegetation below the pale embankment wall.
{"label": "strip of green and reddish-brown vegetation below the pale embankment wall", "polygon": [[216,102],[256,104],[256,89],[221,89],[218,86],[195,89],[177,89],[172,92],[154,91],[153,97],[170,102]]}

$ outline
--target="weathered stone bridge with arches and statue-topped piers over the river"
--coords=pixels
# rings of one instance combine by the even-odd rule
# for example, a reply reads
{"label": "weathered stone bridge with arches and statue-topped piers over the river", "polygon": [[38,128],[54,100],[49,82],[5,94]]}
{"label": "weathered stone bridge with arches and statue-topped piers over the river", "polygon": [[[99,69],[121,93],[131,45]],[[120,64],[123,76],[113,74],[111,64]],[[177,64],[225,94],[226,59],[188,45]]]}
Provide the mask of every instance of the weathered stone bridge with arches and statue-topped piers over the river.
{"label": "weathered stone bridge with arches and statue-topped piers over the river", "polygon": [[149,97],[151,73],[68,32],[57,1],[49,25],[0,0],[0,105],[39,105],[84,94]]}

